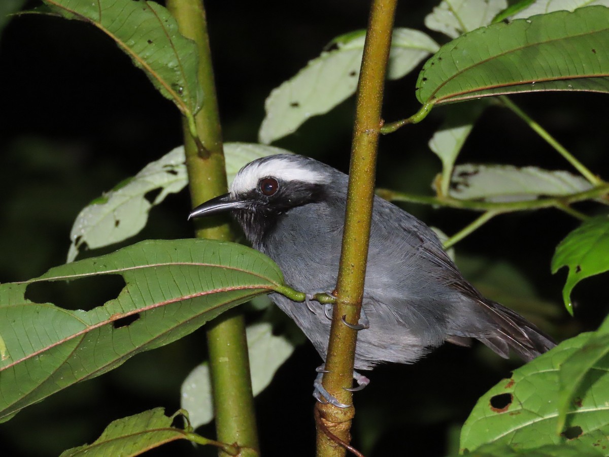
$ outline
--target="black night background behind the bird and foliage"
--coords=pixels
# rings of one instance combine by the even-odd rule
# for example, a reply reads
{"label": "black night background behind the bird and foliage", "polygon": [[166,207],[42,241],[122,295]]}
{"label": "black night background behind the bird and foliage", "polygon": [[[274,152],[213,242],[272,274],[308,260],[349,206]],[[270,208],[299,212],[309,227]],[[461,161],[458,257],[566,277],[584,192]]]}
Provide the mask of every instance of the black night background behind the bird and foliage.
{"label": "black night background behind the bird and foliage", "polygon": [[[2,0],[4,1],[4,0]],[[256,141],[264,99],[272,88],[319,55],[332,38],[364,28],[368,2],[331,0],[207,2],[225,140]],[[36,6],[37,2],[27,2]],[[9,5],[9,3],[5,4]],[[435,2],[401,4],[396,26],[424,30],[423,17]],[[1,10],[0,10],[1,12]],[[441,35],[432,34],[440,43]],[[417,72],[389,82],[384,118],[393,121],[418,109]],[[181,144],[180,115],[114,43],[87,24],[45,16],[12,19],[0,37],[0,282],[25,280],[65,261],[69,230],[83,206],[116,183]],[[606,176],[606,101],[599,94],[534,94],[513,99],[557,136],[588,168]],[[427,142],[448,108],[423,123],[381,138],[378,185],[431,193],[440,171]],[[344,102],[278,141],[300,154],[348,168],[354,104]],[[555,151],[515,115],[493,107],[476,125],[460,162],[512,163],[569,169]],[[134,239],[186,238],[191,207],[186,192],[155,208]],[[430,225],[455,233],[474,214],[406,207]],[[597,207],[580,210],[594,213]],[[608,293],[604,278],[591,278],[574,292],[576,319],[566,316],[561,288],[566,271],[552,276],[556,244],[577,221],[555,210],[500,216],[457,246],[466,276],[491,297],[518,307],[513,271],[535,291],[524,311],[557,339],[596,328]],[[116,249],[113,246],[111,250]],[[97,255],[103,250],[86,253]],[[488,285],[493,268],[495,289]],[[502,283],[501,278],[505,277]],[[57,286],[44,293],[68,308],[90,309],[110,299],[117,285],[100,280]],[[530,301],[530,300],[529,300]],[[520,308],[521,312],[523,311]],[[271,311],[278,325],[289,325]],[[259,314],[250,314],[256,319]],[[0,425],[2,455],[49,456],[91,442],[113,419],[155,406],[179,408],[180,383],[205,358],[205,335],[193,335],[136,356],[109,374],[77,384],[25,409]],[[314,425],[310,395],[319,356],[308,343],[284,364],[256,399],[264,455],[312,455]],[[519,361],[504,361],[476,346],[440,348],[415,366],[384,366],[356,394],[354,445],[368,456],[445,455],[458,445],[463,420],[488,388],[509,377]],[[200,430],[213,437],[213,428]],[[457,443],[457,444],[456,444]],[[152,455],[214,455],[186,442]]]}

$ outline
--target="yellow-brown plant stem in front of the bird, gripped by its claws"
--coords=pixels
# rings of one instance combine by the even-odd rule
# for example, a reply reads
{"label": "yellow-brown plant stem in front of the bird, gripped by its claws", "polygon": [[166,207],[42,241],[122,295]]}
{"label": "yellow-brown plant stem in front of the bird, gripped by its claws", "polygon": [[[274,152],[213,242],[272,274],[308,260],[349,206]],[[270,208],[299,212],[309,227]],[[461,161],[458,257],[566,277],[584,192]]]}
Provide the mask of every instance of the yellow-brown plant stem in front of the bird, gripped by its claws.
{"label": "yellow-brown plant stem in front of the bird, gripped by its claws", "polygon": [[[339,276],[336,285],[337,303],[334,305],[330,331],[326,373],[323,385],[341,403],[353,404],[350,388],[353,377],[353,361],[357,331],[342,323],[359,321],[364,278],[368,258],[368,238],[375,189],[376,150],[382,127],[381,105],[385,72],[396,0],[373,0],[364,45],[364,57],[357,90],[356,120],[353,130],[351,164],[340,255]],[[328,429],[343,442],[350,442],[353,408],[336,408],[332,405],[316,405],[317,455],[345,455],[345,448],[328,437]],[[322,427],[323,422],[324,427]]]}

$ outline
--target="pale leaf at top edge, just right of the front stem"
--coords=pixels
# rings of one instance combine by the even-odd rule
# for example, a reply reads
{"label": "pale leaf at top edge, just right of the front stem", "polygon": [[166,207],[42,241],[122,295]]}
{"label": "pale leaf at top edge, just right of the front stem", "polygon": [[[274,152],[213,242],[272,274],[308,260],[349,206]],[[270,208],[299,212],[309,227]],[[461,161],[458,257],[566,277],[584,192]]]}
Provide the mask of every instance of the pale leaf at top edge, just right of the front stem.
{"label": "pale leaf at top edge, just right of the front stem", "polygon": [[465,32],[490,24],[505,7],[505,0],[443,0],[425,17],[425,26],[457,38]]}

